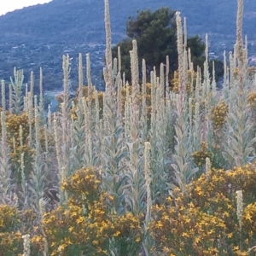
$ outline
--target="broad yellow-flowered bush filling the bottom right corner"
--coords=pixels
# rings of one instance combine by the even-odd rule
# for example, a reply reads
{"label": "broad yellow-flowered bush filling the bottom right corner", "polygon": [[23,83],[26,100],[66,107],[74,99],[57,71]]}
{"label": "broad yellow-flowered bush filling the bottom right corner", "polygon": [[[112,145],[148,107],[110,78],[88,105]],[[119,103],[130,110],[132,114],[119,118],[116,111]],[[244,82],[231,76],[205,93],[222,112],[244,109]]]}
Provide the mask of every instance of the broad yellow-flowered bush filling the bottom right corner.
{"label": "broad yellow-flowered bush filling the bottom right corner", "polygon": [[[168,255],[251,255],[256,239],[256,165],[229,172],[212,170],[154,206],[150,234],[155,251]],[[242,230],[236,216],[236,191],[242,190]],[[252,250],[252,255],[255,254]]]}

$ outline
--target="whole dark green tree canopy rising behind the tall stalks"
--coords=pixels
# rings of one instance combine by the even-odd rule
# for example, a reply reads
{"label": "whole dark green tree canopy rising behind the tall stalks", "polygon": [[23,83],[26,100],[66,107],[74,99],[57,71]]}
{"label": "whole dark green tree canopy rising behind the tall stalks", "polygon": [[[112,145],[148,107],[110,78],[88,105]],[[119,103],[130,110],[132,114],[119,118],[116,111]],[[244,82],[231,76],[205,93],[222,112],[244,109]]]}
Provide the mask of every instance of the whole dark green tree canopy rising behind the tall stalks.
{"label": "whole dark green tree canopy rising behind the tall stalks", "polygon": [[[169,55],[170,71],[177,70],[177,26],[175,11],[169,8],[137,11],[137,17],[130,16],[126,22],[127,38],[113,47],[113,57],[118,56],[118,47],[121,50],[122,71],[125,78],[131,80],[131,61],[129,51],[132,49],[132,39],[137,40],[139,63],[145,59],[147,70],[153,70],[159,75],[160,63],[166,62]],[[190,48],[192,61],[203,68],[205,61],[205,44],[195,35],[188,38],[187,46]]]}

